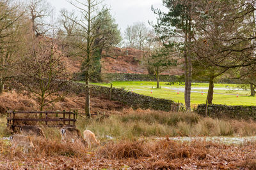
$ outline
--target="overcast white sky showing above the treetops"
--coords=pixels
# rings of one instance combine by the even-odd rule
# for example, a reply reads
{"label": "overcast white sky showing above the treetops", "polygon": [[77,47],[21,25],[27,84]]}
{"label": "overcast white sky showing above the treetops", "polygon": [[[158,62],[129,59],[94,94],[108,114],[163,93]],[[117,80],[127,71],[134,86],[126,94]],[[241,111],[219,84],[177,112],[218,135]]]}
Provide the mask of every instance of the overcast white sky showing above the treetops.
{"label": "overcast white sky showing above the treetops", "polygon": [[[48,1],[56,8],[57,15],[61,8],[74,9],[66,0]],[[162,0],[105,0],[103,4],[111,8],[111,14],[124,32],[127,25],[132,25],[134,22],[140,21],[145,24],[148,23],[148,20],[156,22],[156,15],[151,11],[151,6],[163,8],[162,2]],[[150,26],[148,25],[148,27]]]}

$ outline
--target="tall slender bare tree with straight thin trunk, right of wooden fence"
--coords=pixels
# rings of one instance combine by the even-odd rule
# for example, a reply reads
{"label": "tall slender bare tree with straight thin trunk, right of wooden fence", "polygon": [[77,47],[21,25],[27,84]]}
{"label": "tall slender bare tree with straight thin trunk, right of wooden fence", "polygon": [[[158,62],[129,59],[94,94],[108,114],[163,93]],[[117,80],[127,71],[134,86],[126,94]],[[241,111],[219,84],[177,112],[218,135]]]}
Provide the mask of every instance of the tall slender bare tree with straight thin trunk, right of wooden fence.
{"label": "tall slender bare tree with straight thin trunk, right of wooden fence", "polygon": [[91,117],[90,113],[90,72],[92,70],[92,62],[95,57],[94,53],[99,46],[95,46],[95,40],[100,38],[102,35],[98,32],[99,25],[102,24],[102,20],[97,20],[99,15],[98,6],[101,3],[97,0],[84,0],[84,1],[68,1],[77,10],[80,11],[81,17],[79,20],[70,20],[74,21],[77,24],[76,33],[74,36],[78,37],[77,41],[70,42],[77,49],[76,56],[83,59],[83,72],[85,74],[85,108],[84,111],[87,117]]}

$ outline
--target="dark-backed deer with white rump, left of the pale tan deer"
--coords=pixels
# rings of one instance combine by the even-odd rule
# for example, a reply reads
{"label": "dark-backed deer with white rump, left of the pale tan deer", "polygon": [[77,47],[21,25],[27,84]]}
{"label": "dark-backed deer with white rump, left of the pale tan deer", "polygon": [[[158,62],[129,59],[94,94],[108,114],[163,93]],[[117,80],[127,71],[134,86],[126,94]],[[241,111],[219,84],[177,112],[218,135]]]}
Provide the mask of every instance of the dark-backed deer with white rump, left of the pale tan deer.
{"label": "dark-backed deer with white rump, left of the pale tan deer", "polygon": [[77,141],[77,139],[84,142],[81,132],[76,127],[63,127],[61,129],[61,139],[71,141],[72,143]]}

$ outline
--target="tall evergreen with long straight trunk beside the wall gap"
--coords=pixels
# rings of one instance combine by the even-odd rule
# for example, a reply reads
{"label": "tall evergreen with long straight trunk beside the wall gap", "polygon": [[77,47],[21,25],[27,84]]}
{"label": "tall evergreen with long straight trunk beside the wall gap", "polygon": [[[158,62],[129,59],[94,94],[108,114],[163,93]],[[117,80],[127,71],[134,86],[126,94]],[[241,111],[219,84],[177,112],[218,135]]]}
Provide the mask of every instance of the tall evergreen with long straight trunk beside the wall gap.
{"label": "tall evergreen with long straight trunk beside the wall gap", "polygon": [[158,15],[157,24],[154,25],[155,31],[167,42],[176,41],[176,46],[184,57],[185,104],[188,111],[191,110],[192,62],[189,46],[193,38],[192,15],[195,10],[193,4],[193,0],[163,0],[163,5],[168,8],[168,12],[152,8]]}

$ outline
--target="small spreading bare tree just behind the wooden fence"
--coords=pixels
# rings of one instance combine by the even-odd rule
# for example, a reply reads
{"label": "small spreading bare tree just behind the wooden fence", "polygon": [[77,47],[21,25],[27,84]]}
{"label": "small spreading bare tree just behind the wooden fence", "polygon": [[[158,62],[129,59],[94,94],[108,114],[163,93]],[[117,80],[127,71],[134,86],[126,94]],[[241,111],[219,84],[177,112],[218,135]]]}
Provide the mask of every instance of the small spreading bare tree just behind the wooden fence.
{"label": "small spreading bare tree just behind the wooden fence", "polygon": [[65,95],[60,89],[67,83],[68,74],[55,38],[29,40],[17,80],[21,90],[38,99],[42,111]]}

